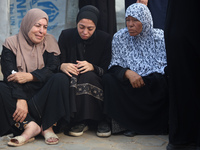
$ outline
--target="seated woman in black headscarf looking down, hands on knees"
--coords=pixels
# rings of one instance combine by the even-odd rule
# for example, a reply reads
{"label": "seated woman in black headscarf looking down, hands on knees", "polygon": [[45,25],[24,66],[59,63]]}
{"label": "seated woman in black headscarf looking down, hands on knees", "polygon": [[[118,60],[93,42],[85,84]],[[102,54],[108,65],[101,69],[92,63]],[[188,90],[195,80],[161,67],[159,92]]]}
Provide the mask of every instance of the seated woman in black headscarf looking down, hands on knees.
{"label": "seated woman in black headscarf looking down, hands on knees", "polygon": [[[59,37],[60,70],[68,75],[72,127],[68,133],[81,136],[88,123],[99,123],[97,135],[109,136],[103,115],[102,75],[111,59],[111,36],[96,30],[99,11],[87,5],[77,15],[77,27],[63,30]],[[95,124],[95,123],[94,123]]]}

